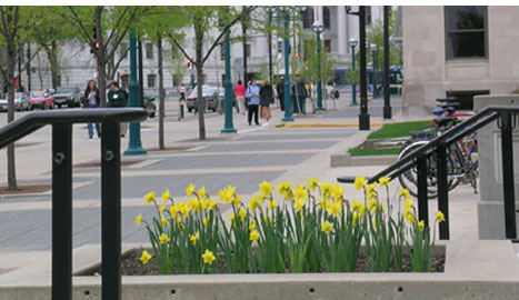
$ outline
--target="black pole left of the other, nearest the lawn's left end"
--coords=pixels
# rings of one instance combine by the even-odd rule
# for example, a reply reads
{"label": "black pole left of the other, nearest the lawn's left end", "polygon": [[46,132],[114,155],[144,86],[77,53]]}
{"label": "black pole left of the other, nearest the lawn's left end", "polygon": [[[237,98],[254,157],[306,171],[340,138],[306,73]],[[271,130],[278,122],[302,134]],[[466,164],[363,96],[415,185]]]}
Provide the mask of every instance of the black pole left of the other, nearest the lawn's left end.
{"label": "black pole left of the other, nearest the lawn's left end", "polygon": [[360,47],[360,114],[359,130],[369,130],[368,93],[366,91],[366,7],[359,7],[359,47]]}

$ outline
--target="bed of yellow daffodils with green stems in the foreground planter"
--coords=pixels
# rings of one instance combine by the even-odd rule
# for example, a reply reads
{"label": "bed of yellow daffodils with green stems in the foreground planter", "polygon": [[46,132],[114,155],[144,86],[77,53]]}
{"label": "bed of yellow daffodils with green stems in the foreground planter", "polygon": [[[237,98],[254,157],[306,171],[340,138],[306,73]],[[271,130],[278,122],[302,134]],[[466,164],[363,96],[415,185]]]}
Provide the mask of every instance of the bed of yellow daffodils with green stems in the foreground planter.
{"label": "bed of yellow daffodils with green stems in the foreground planter", "polygon": [[[262,182],[247,206],[234,187],[220,190],[220,203],[193,184],[186,190],[189,201],[176,201],[169,191],[162,200],[149,192],[144,198],[156,206],[157,217],[148,222],[139,214],[136,222],[146,224],[153,256],[142,250],[139,261],[149,273],[153,261],[161,274],[437,269],[436,226],[428,228],[416,218],[409,191],[400,190],[391,202],[388,184],[389,178],[368,186],[359,177],[355,187],[362,200],[355,200],[345,197],[341,186],[319,179],[296,188],[281,182],[278,202],[272,183]],[[377,188],[385,190],[385,201]],[[231,207],[229,222],[221,204]],[[441,212],[436,216],[437,222],[443,221]]]}

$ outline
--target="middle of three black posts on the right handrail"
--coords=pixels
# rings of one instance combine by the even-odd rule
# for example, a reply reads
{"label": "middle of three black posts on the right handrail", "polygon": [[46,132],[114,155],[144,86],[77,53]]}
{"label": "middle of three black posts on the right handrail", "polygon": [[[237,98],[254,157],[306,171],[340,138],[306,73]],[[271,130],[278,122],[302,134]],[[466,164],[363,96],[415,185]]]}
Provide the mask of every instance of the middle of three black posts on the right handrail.
{"label": "middle of three black posts on the right handrail", "polygon": [[445,216],[439,223],[440,240],[449,239],[449,182],[447,178],[447,147],[445,143],[436,148],[437,179],[438,179],[438,210]]}

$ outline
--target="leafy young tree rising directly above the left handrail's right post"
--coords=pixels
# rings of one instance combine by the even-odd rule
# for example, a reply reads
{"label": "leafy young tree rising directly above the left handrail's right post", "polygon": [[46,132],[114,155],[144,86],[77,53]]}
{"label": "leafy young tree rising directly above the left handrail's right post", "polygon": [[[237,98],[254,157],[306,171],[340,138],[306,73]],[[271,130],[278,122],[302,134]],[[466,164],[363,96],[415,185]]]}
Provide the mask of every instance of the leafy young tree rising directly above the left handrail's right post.
{"label": "leafy young tree rising directly above the left handrail's right post", "polygon": [[53,9],[54,13],[70,23],[76,37],[86,42],[93,52],[98,66],[99,98],[101,107],[107,107],[107,64],[114,59],[130,29],[149,13],[150,8],[98,6]]}

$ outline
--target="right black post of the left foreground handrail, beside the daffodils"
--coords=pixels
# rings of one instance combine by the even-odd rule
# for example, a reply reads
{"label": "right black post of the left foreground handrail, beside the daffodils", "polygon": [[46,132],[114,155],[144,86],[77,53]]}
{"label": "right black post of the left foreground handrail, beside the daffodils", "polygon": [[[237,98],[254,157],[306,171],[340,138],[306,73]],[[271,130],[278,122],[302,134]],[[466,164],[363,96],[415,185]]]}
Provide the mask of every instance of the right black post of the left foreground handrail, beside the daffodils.
{"label": "right black post of the left foreground handrail, beside the daffodils", "polygon": [[101,136],[102,299],[121,299],[120,126],[102,123]]}

